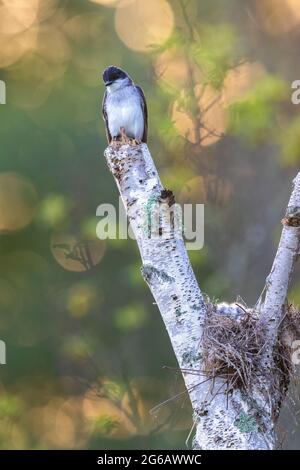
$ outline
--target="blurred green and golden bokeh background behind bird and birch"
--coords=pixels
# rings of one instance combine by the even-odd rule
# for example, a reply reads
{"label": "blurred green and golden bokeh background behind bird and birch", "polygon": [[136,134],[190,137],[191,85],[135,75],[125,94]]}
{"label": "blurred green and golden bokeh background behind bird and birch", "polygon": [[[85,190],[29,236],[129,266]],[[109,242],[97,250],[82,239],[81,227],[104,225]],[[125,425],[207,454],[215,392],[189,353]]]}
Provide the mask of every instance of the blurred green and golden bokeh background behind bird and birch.
{"label": "blurred green and golden bokeh background behind bird and birch", "polygon": [[[202,290],[251,305],[299,169],[299,41],[300,0],[0,1],[2,449],[185,448],[191,409],[136,244],[95,235],[97,206],[118,203],[102,70],[142,85],[165,186],[205,204]],[[291,393],[283,448],[300,448],[298,410]]]}

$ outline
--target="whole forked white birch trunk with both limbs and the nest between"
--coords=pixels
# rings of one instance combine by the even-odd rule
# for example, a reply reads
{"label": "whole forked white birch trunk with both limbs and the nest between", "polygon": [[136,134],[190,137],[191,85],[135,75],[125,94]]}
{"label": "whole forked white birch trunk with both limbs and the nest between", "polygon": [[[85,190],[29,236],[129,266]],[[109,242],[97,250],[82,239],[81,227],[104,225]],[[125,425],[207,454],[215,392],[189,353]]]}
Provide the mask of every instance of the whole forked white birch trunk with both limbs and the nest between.
{"label": "whole forked white birch trunk with both limbs and the nest between", "polygon": [[[161,184],[147,145],[109,146],[105,157],[135,234],[142,275],[161,313],[192,403],[193,447],[274,449],[274,425],[287,390],[282,374],[278,375],[274,367],[284,368],[279,360],[276,362],[276,354],[282,357],[287,351],[278,352],[277,346],[287,315],[289,282],[300,251],[300,173],[282,221],[282,236],[264,299],[259,309],[245,309],[236,304],[212,305],[204,298],[184,241],[170,230],[170,218],[160,219],[159,232],[169,233],[169,237],[151,237],[145,231],[145,207],[149,208],[151,201],[167,202],[169,207],[175,202],[173,193]],[[297,314],[294,317],[300,321]],[[208,351],[208,338],[209,344],[213,341],[223,351],[219,362],[214,363],[216,354],[208,360],[208,353],[213,353]],[[233,349],[239,341],[240,349]],[[248,370],[243,371],[245,365]],[[245,377],[250,377],[248,385],[243,383]]]}

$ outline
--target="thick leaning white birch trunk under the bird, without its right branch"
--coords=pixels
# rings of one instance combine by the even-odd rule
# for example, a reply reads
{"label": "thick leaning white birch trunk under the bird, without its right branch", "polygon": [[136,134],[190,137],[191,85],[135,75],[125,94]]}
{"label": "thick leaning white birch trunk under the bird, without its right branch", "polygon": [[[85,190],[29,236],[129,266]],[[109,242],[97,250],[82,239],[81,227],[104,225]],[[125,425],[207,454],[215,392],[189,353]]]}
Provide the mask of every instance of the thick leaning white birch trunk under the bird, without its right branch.
{"label": "thick leaning white birch trunk under the bird, without its right branch", "polygon": [[[266,407],[265,397],[268,384],[257,384],[249,398],[239,389],[228,394],[225,380],[219,378],[212,382],[205,376],[201,341],[206,305],[184,242],[174,234],[167,238],[149,236],[149,213],[154,204],[172,205],[174,201],[172,193],[164,190],[160,182],[147,145],[108,147],[105,157],[138,243],[142,275],[154,296],[182,370],[194,411],[194,448],[273,449],[274,420],[272,407]],[[170,233],[170,218],[162,216],[160,224],[163,234]],[[290,271],[292,264],[289,262]],[[280,292],[287,289],[287,284],[288,281]],[[227,309],[236,315],[236,308],[228,306]]]}

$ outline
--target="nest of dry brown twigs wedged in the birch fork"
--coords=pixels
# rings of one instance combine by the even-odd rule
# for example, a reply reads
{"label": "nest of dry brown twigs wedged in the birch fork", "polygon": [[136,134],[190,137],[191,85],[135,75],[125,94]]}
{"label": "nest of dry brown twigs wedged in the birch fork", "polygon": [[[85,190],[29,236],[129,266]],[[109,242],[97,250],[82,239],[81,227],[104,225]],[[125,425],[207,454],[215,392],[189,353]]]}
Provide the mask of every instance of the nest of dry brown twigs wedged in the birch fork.
{"label": "nest of dry brown twigs wedged in the birch fork", "polygon": [[[293,371],[292,341],[299,337],[300,315],[292,305],[286,306],[284,320],[274,349],[274,386],[282,395],[288,388]],[[207,316],[203,329],[204,371],[212,379],[227,380],[227,390],[240,388],[251,392],[253,382],[265,373],[261,353],[265,346],[265,329],[258,325],[255,310],[245,309],[239,316],[218,311],[207,302]],[[278,391],[279,391],[278,390]]]}

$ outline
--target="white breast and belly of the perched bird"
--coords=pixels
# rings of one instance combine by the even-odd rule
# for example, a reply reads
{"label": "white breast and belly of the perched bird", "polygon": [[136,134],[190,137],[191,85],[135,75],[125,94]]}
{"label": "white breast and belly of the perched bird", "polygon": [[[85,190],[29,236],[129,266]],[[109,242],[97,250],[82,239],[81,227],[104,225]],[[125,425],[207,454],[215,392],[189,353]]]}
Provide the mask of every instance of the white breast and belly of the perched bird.
{"label": "white breast and belly of the perched bird", "polygon": [[140,96],[133,86],[108,93],[107,117],[112,137],[120,135],[120,128],[124,127],[128,137],[142,139],[144,116]]}

